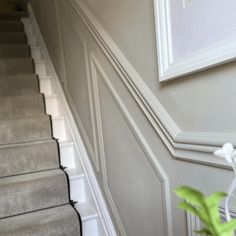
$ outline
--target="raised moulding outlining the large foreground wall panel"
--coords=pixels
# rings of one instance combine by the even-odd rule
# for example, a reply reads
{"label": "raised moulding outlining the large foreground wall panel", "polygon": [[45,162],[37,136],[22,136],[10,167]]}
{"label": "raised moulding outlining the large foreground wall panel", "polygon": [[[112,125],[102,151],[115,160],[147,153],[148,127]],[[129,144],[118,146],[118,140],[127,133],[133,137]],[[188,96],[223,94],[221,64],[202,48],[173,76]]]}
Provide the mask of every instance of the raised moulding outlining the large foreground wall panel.
{"label": "raised moulding outlining the large foreground wall panel", "polygon": [[106,156],[105,156],[105,150],[104,150],[104,143],[103,143],[103,128],[102,128],[102,121],[101,121],[101,113],[100,113],[100,99],[99,99],[99,91],[98,91],[98,76],[101,78],[102,82],[105,84],[110,96],[112,97],[113,101],[117,105],[119,111],[121,112],[121,115],[127,122],[131,132],[133,133],[137,143],[140,145],[141,149],[145,153],[147,160],[149,161],[150,165],[152,166],[153,170],[156,173],[157,178],[161,182],[162,186],[162,198],[163,198],[163,208],[164,208],[164,214],[163,219],[165,219],[165,235],[173,236],[172,232],[172,215],[171,215],[171,199],[170,199],[170,189],[169,189],[169,179],[159,164],[158,160],[156,159],[155,155],[153,154],[152,150],[150,149],[148,143],[146,142],[145,138],[143,137],[142,133],[140,132],[139,128],[137,127],[135,121],[131,117],[130,113],[126,109],[125,105],[121,101],[119,95],[115,91],[114,87],[110,83],[107,75],[105,74],[104,70],[102,69],[101,65],[99,64],[96,57],[90,53],[90,66],[92,71],[92,81],[93,81],[93,87],[94,87],[94,94],[95,94],[95,103],[96,103],[96,112],[97,112],[97,126],[98,126],[98,135],[99,135],[99,149],[100,149],[100,158],[101,158],[101,165],[102,165],[102,175],[103,175],[103,185],[104,190],[107,196],[107,199],[109,201],[109,204],[111,206],[111,209],[113,211],[113,214],[115,216],[115,219],[117,221],[119,230],[121,232],[122,236],[126,236],[125,229],[123,227],[122,221],[119,217],[119,213],[117,211],[117,208],[115,206],[112,193],[109,189],[108,184],[108,177],[107,177],[107,166],[106,166]]}

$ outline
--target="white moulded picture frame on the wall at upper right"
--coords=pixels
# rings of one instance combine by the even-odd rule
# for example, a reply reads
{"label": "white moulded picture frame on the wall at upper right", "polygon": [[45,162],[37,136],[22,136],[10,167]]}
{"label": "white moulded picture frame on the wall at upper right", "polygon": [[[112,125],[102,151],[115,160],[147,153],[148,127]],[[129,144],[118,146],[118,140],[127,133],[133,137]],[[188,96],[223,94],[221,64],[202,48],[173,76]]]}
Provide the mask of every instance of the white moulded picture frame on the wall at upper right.
{"label": "white moulded picture frame on the wall at upper right", "polygon": [[236,38],[228,38],[191,55],[174,60],[170,0],[154,0],[159,81],[176,79],[236,58]]}

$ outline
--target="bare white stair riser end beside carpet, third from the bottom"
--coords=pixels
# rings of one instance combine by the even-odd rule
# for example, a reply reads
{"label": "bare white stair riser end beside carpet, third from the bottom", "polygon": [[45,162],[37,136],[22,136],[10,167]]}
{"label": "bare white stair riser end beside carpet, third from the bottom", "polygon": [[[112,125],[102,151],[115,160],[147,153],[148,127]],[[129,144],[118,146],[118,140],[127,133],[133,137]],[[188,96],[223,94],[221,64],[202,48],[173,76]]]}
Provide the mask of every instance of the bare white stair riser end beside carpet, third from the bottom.
{"label": "bare white stair riser end beside carpet, third from the bottom", "polygon": [[67,168],[75,168],[74,147],[71,144],[59,144],[61,165]]}

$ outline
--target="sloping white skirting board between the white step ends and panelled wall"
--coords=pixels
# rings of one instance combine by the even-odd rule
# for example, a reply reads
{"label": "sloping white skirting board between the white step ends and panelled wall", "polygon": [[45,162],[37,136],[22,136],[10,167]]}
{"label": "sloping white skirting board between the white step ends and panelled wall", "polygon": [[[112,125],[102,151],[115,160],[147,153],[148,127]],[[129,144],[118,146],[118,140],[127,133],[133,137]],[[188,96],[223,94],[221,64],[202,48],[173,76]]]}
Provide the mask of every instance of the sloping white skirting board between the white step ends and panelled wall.
{"label": "sloping white skirting board between the white step ends and panelled wall", "polygon": [[49,70],[49,73],[52,75],[52,82],[54,84],[54,87],[56,88],[56,92],[58,94],[58,102],[61,103],[61,107],[64,109],[63,114],[65,115],[66,122],[68,124],[68,128],[70,129],[70,132],[72,134],[72,140],[75,145],[76,151],[79,153],[81,164],[84,170],[85,177],[88,181],[88,185],[90,187],[90,190],[93,195],[93,199],[95,201],[97,210],[98,210],[98,215],[101,220],[102,227],[105,231],[106,236],[117,236],[117,233],[115,231],[113,222],[111,220],[108,208],[106,206],[106,202],[103,198],[102,192],[100,190],[99,184],[97,182],[96,176],[94,174],[94,170],[92,168],[92,165],[89,161],[89,157],[87,154],[87,151],[83,145],[82,138],[79,134],[79,131],[77,129],[75,120],[73,118],[73,115],[71,113],[70,107],[67,103],[67,99],[64,95],[64,91],[61,86],[61,82],[59,80],[59,77],[57,75],[57,72],[53,66],[51,57],[48,53],[47,46],[45,44],[45,41],[42,37],[42,34],[40,32],[40,29],[38,27],[37,20],[34,16],[33,10],[31,6],[29,5],[29,12],[30,12],[30,17],[32,20],[32,23],[34,25],[34,29],[36,29],[36,34],[39,38],[39,44],[42,49],[43,57],[47,63],[47,68]]}

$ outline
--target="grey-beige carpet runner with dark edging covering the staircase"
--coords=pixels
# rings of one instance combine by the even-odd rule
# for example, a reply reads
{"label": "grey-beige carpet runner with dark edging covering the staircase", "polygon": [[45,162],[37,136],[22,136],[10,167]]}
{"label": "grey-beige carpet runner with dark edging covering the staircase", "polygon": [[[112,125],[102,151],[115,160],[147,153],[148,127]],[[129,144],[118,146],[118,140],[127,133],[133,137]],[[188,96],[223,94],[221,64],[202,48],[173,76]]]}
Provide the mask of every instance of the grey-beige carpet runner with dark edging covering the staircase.
{"label": "grey-beige carpet runner with dark edging covering the staircase", "polygon": [[78,236],[23,16],[0,12],[0,236]]}

